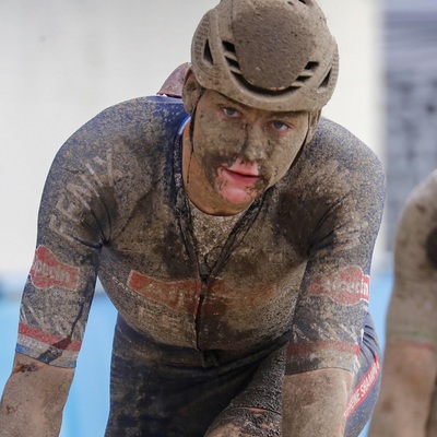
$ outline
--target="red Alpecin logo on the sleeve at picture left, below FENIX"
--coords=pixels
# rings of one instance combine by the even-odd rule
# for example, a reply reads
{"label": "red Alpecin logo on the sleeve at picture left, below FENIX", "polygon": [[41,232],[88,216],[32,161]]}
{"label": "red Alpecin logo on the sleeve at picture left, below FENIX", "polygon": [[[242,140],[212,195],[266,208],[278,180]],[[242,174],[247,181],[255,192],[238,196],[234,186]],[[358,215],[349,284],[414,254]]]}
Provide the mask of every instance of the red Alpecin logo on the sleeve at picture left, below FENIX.
{"label": "red Alpecin logo on the sleeve at picture left, below FENIX", "polygon": [[38,246],[31,269],[32,284],[37,288],[59,286],[74,291],[79,284],[79,268],[60,262],[45,246]]}

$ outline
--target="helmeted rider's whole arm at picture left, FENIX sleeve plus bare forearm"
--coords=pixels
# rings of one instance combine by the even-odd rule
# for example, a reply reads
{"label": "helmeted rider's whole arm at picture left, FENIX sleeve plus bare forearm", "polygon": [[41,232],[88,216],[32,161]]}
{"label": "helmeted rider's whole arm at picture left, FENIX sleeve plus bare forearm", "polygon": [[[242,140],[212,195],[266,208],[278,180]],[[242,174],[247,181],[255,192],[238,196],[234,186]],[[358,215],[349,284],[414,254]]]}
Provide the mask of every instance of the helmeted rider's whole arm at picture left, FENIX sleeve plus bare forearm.
{"label": "helmeted rider's whole arm at picture left, FENIX sleeve plus bare forearm", "polygon": [[[104,166],[103,160],[96,164],[87,158],[86,150],[81,153],[74,137],[71,141],[73,147],[67,144],[58,153],[40,202],[16,354],[0,405],[1,437],[59,435],[94,295],[99,232],[105,232],[108,222],[99,213],[106,211],[105,198],[97,196],[104,184],[96,178],[104,174]],[[86,174],[91,166],[93,176]],[[84,205],[87,199],[90,206]]]}

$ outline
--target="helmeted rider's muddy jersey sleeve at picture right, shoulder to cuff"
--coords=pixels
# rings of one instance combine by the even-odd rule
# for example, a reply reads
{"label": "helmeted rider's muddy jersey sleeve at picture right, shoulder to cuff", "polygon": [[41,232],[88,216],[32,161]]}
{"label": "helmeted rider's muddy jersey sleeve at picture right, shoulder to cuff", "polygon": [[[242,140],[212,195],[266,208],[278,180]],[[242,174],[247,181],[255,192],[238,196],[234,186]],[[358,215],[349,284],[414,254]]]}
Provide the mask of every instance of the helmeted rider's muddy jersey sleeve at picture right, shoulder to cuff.
{"label": "helmeted rider's muddy jersey sleeve at picture right, shoulder to cuff", "polygon": [[286,373],[355,373],[386,179],[375,154],[340,126],[324,121],[314,141],[304,155],[309,164],[298,169],[311,232]]}

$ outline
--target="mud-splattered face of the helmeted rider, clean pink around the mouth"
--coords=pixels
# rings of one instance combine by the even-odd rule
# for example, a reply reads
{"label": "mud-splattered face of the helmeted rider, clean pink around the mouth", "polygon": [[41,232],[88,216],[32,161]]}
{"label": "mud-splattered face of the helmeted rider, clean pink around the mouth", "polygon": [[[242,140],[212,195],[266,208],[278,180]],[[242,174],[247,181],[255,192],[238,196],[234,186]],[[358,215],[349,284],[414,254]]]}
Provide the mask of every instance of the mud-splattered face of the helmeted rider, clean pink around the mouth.
{"label": "mud-splattered face of the helmeted rider, clean pink around the mouth", "polygon": [[192,146],[217,196],[246,205],[285,175],[307,131],[307,113],[250,108],[206,90],[197,106]]}

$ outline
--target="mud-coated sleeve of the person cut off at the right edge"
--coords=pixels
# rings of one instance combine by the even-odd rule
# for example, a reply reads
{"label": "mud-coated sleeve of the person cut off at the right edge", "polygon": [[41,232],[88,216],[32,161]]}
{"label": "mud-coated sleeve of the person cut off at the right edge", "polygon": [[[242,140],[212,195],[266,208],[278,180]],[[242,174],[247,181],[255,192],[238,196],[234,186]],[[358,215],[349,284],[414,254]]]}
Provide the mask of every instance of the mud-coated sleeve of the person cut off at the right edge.
{"label": "mud-coated sleeve of the person cut off at the right edge", "polygon": [[437,170],[408,198],[398,223],[388,341],[437,351]]}

